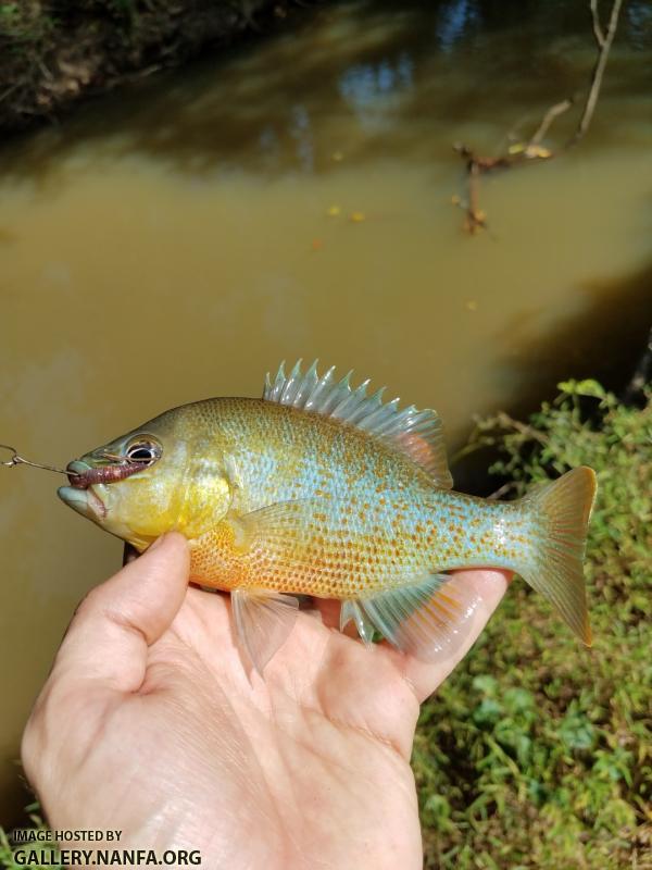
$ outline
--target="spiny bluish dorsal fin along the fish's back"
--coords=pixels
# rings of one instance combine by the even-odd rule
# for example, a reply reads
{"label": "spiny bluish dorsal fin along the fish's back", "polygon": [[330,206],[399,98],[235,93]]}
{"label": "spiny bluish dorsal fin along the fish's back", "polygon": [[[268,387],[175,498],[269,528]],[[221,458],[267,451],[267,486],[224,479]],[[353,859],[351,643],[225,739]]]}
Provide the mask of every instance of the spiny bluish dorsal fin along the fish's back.
{"label": "spiny bluish dorsal fin along the fish's back", "polygon": [[290,374],[286,375],[281,362],[274,381],[267,373],[263,398],[358,426],[409,456],[428,472],[438,486],[450,489],[453,478],[446,458],[441,420],[437,413],[429,408],[418,411],[414,405],[400,411],[399,399],[383,402],[385,387],[367,396],[368,381],[353,389],[352,372],[341,381],[335,380],[334,372],[335,365],[319,377],[315,360],[304,374],[299,360]]}

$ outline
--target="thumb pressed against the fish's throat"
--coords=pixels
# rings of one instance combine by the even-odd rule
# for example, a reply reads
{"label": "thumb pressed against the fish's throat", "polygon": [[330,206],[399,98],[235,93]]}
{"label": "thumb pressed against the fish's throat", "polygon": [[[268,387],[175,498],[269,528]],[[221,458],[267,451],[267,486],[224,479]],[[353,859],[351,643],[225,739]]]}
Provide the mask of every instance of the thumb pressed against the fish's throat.
{"label": "thumb pressed against the fish's throat", "polygon": [[52,674],[136,692],[145,678],[148,646],[170,627],[181,607],[188,570],[186,538],[168,534],[154,542],[84,599]]}

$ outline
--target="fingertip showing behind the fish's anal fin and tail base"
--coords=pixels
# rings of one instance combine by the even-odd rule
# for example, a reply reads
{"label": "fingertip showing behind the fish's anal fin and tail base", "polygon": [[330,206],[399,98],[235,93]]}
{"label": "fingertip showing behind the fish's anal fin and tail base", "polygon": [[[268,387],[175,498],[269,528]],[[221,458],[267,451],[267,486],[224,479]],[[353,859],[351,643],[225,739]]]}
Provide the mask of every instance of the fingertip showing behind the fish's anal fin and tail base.
{"label": "fingertip showing behind the fish's anal fin and tail base", "polygon": [[512,576],[511,571],[488,569],[455,571],[451,584],[463,587],[465,592],[477,595],[479,599],[478,607],[466,623],[464,633],[456,643],[451,644],[448,652],[443,652],[441,658],[435,662],[419,661],[413,656],[393,654],[397,656],[397,663],[404,678],[411,683],[419,703],[435,692],[475,644],[505,594]]}

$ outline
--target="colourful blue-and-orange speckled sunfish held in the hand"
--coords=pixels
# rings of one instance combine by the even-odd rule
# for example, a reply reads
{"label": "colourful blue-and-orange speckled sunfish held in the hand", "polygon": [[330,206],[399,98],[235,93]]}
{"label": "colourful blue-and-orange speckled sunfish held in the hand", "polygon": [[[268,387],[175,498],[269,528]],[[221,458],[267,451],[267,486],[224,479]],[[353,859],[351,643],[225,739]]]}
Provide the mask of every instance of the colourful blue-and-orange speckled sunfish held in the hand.
{"label": "colourful blue-and-orange speckled sunfish held in the hand", "polygon": [[377,633],[436,661],[463,638],[481,593],[455,569],[499,568],[542,593],[591,644],[582,575],[595,474],[579,467],[518,500],[452,489],[432,409],[400,409],[300,360],[262,398],[165,411],[67,465],[61,499],[145,551],[189,543],[190,582],[230,593],[240,648],[262,674],[300,596],[338,599],[365,644]]}

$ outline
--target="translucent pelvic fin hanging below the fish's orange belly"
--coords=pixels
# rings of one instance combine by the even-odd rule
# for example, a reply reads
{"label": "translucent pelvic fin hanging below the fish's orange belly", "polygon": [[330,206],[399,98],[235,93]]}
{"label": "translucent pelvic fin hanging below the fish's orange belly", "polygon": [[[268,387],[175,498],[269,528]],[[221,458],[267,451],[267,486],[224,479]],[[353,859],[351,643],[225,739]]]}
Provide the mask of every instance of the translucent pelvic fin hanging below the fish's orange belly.
{"label": "translucent pelvic fin hanging below the fish's orange belly", "polygon": [[262,675],[292,631],[299,601],[266,589],[236,589],[231,605],[240,647]]}

